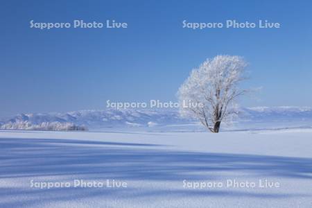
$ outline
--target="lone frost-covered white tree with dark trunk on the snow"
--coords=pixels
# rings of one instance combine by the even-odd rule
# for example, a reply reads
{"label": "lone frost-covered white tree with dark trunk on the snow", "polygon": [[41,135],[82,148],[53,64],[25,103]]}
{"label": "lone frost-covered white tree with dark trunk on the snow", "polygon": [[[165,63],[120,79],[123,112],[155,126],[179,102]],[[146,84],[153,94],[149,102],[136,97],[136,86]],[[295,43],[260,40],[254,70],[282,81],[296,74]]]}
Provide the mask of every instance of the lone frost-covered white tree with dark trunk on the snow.
{"label": "lone frost-covered white tree with dark trunk on the snow", "polygon": [[246,65],[239,56],[217,55],[193,69],[177,92],[182,115],[195,117],[211,132],[219,132],[221,121],[236,114],[235,99],[245,92],[238,85],[245,79]]}

